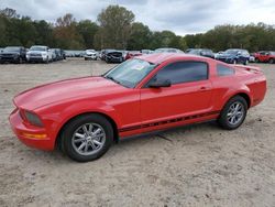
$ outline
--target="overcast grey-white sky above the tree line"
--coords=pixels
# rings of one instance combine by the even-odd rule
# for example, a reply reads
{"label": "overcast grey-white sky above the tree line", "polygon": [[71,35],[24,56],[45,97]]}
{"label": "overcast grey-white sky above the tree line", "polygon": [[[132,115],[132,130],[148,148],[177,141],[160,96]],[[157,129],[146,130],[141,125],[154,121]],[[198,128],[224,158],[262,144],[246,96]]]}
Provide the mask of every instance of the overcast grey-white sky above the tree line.
{"label": "overcast grey-white sky above the tree line", "polygon": [[77,20],[96,21],[109,4],[120,4],[151,30],[176,34],[200,33],[217,24],[275,24],[275,0],[0,0],[0,9],[15,9],[21,15],[54,22],[65,13]]}

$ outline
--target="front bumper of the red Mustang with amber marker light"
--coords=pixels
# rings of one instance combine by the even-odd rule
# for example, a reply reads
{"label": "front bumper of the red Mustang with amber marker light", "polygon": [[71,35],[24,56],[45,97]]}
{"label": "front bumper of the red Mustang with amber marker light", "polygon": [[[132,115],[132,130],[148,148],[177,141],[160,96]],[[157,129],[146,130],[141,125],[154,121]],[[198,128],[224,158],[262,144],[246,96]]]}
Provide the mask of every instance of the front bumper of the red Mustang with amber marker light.
{"label": "front bumper of the red Mustang with amber marker light", "polygon": [[9,120],[12,131],[25,145],[45,151],[54,150],[55,140],[48,135],[44,128],[25,123],[20,116],[19,109],[12,111]]}

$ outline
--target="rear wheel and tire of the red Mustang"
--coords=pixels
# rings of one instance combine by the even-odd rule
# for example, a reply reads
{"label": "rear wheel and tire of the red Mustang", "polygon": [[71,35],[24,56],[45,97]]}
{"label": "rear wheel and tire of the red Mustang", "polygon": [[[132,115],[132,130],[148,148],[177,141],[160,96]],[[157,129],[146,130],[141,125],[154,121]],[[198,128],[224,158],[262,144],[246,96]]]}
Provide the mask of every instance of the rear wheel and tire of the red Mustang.
{"label": "rear wheel and tire of the red Mustang", "polygon": [[[235,111],[237,106],[240,106],[240,110]],[[233,112],[232,112],[233,111]],[[248,112],[248,102],[241,96],[234,96],[223,107],[218,122],[221,128],[227,130],[238,129],[244,121]],[[231,115],[230,115],[231,113]],[[234,115],[232,115],[234,113]],[[230,115],[230,116],[229,116]],[[235,123],[234,123],[235,120]]]}

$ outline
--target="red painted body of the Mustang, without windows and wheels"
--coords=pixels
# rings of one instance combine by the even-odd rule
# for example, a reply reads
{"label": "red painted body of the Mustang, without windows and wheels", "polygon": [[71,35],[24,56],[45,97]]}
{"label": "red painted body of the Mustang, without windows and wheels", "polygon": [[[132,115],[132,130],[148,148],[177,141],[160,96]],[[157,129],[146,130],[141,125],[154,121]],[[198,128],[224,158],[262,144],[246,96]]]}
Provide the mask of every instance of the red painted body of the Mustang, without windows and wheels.
{"label": "red painted body of the Mustang, without windows and wheels", "polygon": [[[157,66],[134,88],[127,88],[103,77],[74,78],[46,84],[23,91],[13,102],[10,123],[26,145],[53,150],[63,127],[73,118],[96,112],[116,128],[119,139],[144,132],[217,119],[226,102],[243,96],[249,107],[265,96],[266,79],[261,69],[227,65],[211,58],[184,54],[139,56]],[[205,62],[208,79],[172,85],[167,88],[143,86],[165,65],[178,61]],[[234,69],[234,75],[218,76],[217,64]],[[43,126],[31,124],[24,111],[37,115]]]}

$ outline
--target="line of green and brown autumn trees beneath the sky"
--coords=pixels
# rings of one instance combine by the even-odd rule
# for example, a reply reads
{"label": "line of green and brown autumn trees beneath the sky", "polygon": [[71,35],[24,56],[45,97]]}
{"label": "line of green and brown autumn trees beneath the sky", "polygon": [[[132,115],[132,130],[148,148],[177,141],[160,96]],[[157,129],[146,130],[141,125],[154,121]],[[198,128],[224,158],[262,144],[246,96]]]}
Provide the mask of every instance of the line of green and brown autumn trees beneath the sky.
{"label": "line of green and brown autumn trees beneath the sky", "polygon": [[0,47],[30,47],[34,44],[65,50],[177,47],[185,51],[204,47],[218,52],[239,47],[255,52],[275,50],[275,26],[264,23],[224,24],[206,33],[180,36],[168,30],[150,30],[147,25],[135,22],[132,11],[120,6],[103,9],[95,22],[76,21],[73,14],[67,13],[51,23],[21,17],[10,8],[0,10]]}

